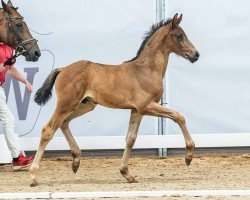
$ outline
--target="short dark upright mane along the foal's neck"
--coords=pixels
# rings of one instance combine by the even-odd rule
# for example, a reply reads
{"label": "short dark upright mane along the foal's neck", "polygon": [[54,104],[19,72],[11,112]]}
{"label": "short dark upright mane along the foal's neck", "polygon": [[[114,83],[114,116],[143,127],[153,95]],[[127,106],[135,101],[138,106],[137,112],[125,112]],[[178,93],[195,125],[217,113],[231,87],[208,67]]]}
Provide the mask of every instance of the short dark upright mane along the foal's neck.
{"label": "short dark upright mane along the foal's neck", "polygon": [[132,58],[131,60],[128,60],[128,61],[125,61],[125,62],[132,62],[132,61],[136,60],[139,57],[139,55],[141,54],[141,52],[143,51],[145,45],[147,44],[147,42],[149,41],[149,39],[151,38],[151,36],[154,35],[154,33],[158,29],[160,29],[162,26],[164,26],[166,24],[169,24],[171,21],[172,21],[172,19],[169,18],[167,20],[163,19],[160,22],[153,24],[150,27],[150,29],[145,32],[145,35],[143,37],[143,41],[141,43],[141,46],[140,46],[139,50],[136,53],[136,56],[134,58]]}

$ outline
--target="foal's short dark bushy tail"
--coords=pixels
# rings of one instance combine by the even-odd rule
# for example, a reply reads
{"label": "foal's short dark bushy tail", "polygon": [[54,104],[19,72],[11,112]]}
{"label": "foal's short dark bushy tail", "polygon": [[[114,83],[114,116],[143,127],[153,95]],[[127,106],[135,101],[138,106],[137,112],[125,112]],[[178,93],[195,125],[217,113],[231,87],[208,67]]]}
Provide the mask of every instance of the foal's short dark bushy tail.
{"label": "foal's short dark bushy tail", "polygon": [[53,85],[55,83],[56,77],[60,73],[60,71],[61,71],[61,69],[59,69],[59,68],[54,69],[49,74],[49,76],[46,78],[42,87],[37,90],[34,100],[38,105],[40,105],[40,106],[45,105],[48,102],[48,100],[50,99],[50,97],[52,96],[51,90],[52,90]]}

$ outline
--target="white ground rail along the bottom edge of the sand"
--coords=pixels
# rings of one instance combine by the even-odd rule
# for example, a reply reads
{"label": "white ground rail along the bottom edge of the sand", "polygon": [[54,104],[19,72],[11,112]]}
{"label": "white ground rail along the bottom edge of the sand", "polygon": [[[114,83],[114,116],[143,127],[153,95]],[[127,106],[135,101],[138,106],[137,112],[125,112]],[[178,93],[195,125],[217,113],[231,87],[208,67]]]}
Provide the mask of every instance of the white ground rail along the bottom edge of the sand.
{"label": "white ground rail along the bottom edge of the sand", "polygon": [[69,199],[111,197],[164,197],[164,196],[250,196],[250,190],[163,190],[163,191],[116,191],[116,192],[36,192],[0,193],[0,199]]}

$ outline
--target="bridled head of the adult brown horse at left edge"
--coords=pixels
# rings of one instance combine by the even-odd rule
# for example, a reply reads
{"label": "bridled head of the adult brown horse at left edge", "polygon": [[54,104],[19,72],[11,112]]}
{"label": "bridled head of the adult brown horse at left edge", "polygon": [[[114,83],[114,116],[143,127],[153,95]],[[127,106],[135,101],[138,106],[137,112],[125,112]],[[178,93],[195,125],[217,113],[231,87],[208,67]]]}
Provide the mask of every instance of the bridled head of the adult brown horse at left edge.
{"label": "bridled head of the adult brown horse at left edge", "polygon": [[3,9],[0,12],[0,41],[11,46],[27,61],[37,61],[41,52],[37,40],[30,34],[23,17],[17,12],[11,1],[7,4],[2,1]]}

